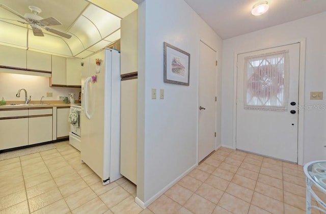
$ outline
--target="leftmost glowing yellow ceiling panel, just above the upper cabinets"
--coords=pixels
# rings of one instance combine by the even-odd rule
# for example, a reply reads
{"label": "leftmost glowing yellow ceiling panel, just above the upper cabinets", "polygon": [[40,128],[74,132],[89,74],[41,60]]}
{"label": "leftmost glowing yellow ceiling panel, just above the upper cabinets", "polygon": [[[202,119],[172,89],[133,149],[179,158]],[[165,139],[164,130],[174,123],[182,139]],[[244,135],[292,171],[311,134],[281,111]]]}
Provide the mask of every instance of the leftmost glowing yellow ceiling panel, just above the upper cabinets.
{"label": "leftmost glowing yellow ceiling panel, just above the upper cabinets", "polygon": [[0,41],[26,47],[27,28],[0,21]]}

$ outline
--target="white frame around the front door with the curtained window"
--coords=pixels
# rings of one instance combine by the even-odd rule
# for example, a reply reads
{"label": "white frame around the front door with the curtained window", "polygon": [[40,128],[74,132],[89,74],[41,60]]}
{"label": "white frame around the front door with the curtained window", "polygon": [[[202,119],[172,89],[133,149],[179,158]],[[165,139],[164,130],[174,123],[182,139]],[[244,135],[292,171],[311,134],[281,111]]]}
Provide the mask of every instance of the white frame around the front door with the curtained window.
{"label": "white frame around the front door with the curtained window", "polygon": [[[236,99],[237,99],[237,60],[238,54],[248,53],[258,50],[275,48],[285,45],[300,44],[300,64],[299,64],[299,99],[298,105],[305,103],[305,71],[306,71],[306,38],[301,40],[294,40],[288,43],[276,44],[273,46],[260,47],[246,51],[236,51],[234,53],[233,62],[233,132],[232,132],[232,148],[236,149]],[[298,125],[297,125],[297,164],[304,165],[304,114],[305,111],[298,112]]]}

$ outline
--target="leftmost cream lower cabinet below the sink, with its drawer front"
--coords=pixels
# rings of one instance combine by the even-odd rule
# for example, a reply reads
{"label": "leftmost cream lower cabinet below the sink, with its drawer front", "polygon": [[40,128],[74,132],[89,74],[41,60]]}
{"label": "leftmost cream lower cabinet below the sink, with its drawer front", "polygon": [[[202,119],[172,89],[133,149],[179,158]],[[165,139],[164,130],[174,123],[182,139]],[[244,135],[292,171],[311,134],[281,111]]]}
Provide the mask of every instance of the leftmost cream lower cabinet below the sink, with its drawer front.
{"label": "leftmost cream lower cabinet below the sink, with its drawer front", "polygon": [[0,150],[28,145],[28,110],[0,111]]}

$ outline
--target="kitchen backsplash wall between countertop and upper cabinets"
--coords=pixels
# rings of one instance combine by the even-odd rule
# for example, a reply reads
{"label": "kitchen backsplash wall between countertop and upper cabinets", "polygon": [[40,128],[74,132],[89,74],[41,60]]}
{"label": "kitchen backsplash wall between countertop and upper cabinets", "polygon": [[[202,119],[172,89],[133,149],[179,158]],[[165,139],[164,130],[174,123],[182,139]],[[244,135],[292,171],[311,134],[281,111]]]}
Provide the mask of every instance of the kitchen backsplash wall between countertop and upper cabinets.
{"label": "kitchen backsplash wall between countertop and upper cabinets", "polygon": [[[19,98],[16,97],[20,88],[26,89],[28,96],[32,96],[32,101],[40,101],[42,96],[43,101],[58,100],[59,95],[68,97],[68,93],[74,93],[75,100],[78,100],[80,91],[80,88],[50,87],[48,77],[0,73],[0,100],[4,98],[6,101],[24,101],[23,92]],[[52,93],[52,97],[46,97],[47,92]]]}

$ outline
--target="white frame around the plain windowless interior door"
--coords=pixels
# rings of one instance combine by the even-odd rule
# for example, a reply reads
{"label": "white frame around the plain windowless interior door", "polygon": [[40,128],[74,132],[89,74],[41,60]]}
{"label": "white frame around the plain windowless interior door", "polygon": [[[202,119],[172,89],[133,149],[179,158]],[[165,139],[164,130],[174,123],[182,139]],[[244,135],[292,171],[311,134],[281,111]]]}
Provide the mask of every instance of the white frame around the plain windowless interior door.
{"label": "white frame around the plain windowless interior door", "polygon": [[[207,45],[207,47],[209,47],[210,49],[212,49],[215,52],[215,60],[218,60],[218,51],[215,50],[211,45],[208,45],[208,43],[206,43],[203,39],[199,38],[198,44],[197,44],[197,46],[198,46],[198,55],[197,55],[197,57],[198,57],[197,58],[198,59],[198,67],[197,67],[197,69],[198,69],[198,73],[197,73],[197,86],[198,86],[197,87],[197,143],[196,143],[197,144],[197,148],[196,148],[196,164],[197,165],[198,165],[198,149],[199,149],[198,148],[199,147],[199,111],[198,111],[198,109],[199,109],[199,60],[200,60],[199,59],[199,57],[200,57],[199,48],[200,48],[201,42],[203,44]],[[218,96],[218,66],[215,67],[215,96],[216,97]],[[218,101],[215,102],[215,115],[214,115],[214,120],[215,120],[214,129],[215,129],[216,135],[218,134],[218,132],[216,130],[218,128],[218,126],[217,126],[218,117],[217,116],[218,116]],[[216,149],[219,148],[217,138],[218,137],[216,136],[214,139],[215,151],[216,151]]]}

